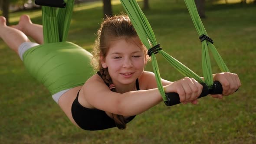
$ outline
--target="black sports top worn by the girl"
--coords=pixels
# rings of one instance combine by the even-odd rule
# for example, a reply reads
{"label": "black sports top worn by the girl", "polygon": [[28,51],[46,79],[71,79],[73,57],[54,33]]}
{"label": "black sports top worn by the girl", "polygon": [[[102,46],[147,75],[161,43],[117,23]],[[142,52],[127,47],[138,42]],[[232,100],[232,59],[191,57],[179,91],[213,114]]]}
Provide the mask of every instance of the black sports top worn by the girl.
{"label": "black sports top worn by the girl", "polygon": [[[97,72],[97,74],[101,76],[99,72]],[[137,90],[140,90],[138,79],[136,79],[136,88]],[[78,101],[78,95],[79,92],[72,104],[71,111],[73,119],[80,128],[84,130],[96,131],[116,127],[115,121],[110,118],[105,111],[83,107]],[[130,122],[133,118],[135,118],[135,116],[136,115],[127,118],[126,123]]]}

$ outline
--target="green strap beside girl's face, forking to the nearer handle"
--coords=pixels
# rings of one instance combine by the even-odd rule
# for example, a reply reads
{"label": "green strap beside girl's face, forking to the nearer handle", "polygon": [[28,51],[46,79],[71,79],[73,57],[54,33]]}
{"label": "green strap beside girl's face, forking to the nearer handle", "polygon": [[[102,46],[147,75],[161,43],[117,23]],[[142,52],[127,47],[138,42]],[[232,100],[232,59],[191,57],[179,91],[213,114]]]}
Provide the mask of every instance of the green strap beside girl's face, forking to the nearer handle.
{"label": "green strap beside girl's face, forking to the nearer handle", "polygon": [[[156,38],[154,36],[154,32],[142,12],[141,8],[139,7],[136,0],[120,0],[126,13],[128,14],[129,18],[131,19],[131,23],[136,29],[136,32],[138,33],[138,36],[140,37],[142,43],[147,47],[147,49],[151,49],[152,46],[156,46],[158,43],[156,41]],[[150,43],[149,43],[150,41]],[[152,45],[152,46],[151,46]],[[200,83],[204,83],[203,80],[198,76],[196,73],[194,73],[192,70],[188,69],[185,65],[183,65],[181,62],[174,59],[172,56],[168,55],[163,50],[158,50],[158,53],[160,53],[164,58],[172,65],[175,69],[177,69],[179,72],[181,72],[184,76],[188,76],[191,78],[196,79]],[[163,85],[161,83],[161,77],[159,73],[158,63],[157,59],[154,56],[154,53],[151,55],[152,58],[152,66],[154,70],[154,74],[156,75],[156,81],[158,85],[158,90],[161,93],[161,96],[164,101],[167,101],[167,98],[164,93]]]}

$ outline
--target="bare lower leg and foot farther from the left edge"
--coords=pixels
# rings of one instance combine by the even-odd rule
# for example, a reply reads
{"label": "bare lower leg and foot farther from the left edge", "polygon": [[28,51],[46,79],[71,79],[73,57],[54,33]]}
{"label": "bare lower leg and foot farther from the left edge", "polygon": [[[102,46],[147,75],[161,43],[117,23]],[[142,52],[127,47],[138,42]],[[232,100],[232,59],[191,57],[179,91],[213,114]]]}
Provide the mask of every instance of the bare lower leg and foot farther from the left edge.
{"label": "bare lower leg and foot farther from the left edge", "polygon": [[32,23],[28,15],[20,16],[19,24],[12,27],[32,37],[36,43],[43,44],[43,26]]}

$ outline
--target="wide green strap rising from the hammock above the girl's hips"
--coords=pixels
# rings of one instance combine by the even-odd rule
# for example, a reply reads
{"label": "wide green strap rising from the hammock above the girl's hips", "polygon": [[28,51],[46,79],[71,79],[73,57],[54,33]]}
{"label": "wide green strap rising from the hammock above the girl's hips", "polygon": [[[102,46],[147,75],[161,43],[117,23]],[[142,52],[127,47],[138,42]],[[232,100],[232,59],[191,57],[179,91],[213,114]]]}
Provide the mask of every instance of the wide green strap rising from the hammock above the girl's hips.
{"label": "wide green strap rising from the hammock above the girl's hips", "polygon": [[74,0],[65,0],[66,8],[42,7],[44,43],[66,41]]}

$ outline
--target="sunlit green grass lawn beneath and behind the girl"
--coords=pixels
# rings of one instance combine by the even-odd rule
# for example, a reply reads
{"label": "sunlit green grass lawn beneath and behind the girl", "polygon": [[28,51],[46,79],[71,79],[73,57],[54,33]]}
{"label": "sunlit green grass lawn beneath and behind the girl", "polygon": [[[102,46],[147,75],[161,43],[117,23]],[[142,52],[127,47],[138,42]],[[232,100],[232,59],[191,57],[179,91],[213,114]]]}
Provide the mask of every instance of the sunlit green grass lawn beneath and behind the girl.
{"label": "sunlit green grass lawn beneath and behind the girl", "polygon": [[[176,0],[175,0],[176,1]],[[142,4],[140,2],[140,4]],[[183,1],[150,0],[145,15],[158,43],[198,75],[201,43]],[[79,6],[80,8],[83,5]],[[113,6],[114,12],[123,10]],[[11,13],[12,24],[27,13],[41,23],[39,11]],[[256,5],[207,3],[207,33],[214,40],[242,87],[222,100],[210,96],[198,105],[164,103],[138,115],[125,131],[83,131],[76,128],[52,100],[43,85],[26,72],[15,52],[0,40],[0,143],[2,144],[255,144],[256,143]],[[69,41],[91,50],[99,23],[99,3],[73,13]],[[182,77],[158,56],[161,76]],[[220,72],[212,61],[213,72]],[[149,63],[147,70],[152,70]]]}

